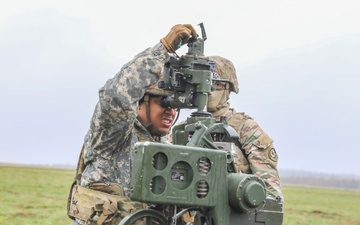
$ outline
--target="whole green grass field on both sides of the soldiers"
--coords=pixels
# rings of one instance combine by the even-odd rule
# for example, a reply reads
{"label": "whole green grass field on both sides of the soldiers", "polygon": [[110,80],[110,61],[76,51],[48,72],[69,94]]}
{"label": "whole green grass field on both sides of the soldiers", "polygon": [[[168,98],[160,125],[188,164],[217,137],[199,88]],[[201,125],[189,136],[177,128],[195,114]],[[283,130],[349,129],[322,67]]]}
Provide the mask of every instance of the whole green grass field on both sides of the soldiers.
{"label": "whole green grass field on both sides of the soldiers", "polygon": [[[0,166],[0,225],[70,225],[73,176],[66,169]],[[284,225],[360,225],[360,191],[283,185],[283,192]]]}

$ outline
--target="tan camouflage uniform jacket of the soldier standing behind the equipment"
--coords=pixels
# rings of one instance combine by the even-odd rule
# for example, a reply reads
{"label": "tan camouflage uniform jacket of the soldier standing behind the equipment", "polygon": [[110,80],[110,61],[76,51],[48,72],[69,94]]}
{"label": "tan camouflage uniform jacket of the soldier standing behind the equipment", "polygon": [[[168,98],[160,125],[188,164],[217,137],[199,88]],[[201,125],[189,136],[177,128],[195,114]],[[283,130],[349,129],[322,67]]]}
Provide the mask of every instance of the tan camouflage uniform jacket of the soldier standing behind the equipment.
{"label": "tan camouflage uniform jacket of the soldier standing behind the equipment", "polygon": [[243,149],[236,148],[238,156],[235,157],[235,164],[238,171],[258,175],[266,183],[267,196],[283,200],[277,170],[278,155],[273,140],[245,113],[229,108],[224,116],[228,117],[228,124],[238,133]]}

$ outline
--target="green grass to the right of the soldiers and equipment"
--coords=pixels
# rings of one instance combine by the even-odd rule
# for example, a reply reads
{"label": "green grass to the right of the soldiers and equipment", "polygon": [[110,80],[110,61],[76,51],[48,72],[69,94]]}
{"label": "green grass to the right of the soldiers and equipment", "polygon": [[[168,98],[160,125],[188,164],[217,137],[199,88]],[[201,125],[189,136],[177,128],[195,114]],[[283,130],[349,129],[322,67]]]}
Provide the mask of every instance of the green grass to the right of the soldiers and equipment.
{"label": "green grass to the right of the soldiers and equipment", "polygon": [[360,191],[283,185],[284,224],[360,225]]}

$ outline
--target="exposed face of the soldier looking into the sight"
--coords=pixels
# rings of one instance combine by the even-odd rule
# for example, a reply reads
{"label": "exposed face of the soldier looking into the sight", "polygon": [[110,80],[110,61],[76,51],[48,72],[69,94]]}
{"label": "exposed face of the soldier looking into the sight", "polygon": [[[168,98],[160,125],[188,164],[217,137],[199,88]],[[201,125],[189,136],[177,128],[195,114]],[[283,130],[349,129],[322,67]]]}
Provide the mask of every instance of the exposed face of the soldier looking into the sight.
{"label": "exposed face of the soldier looking into the sight", "polygon": [[[162,107],[160,104],[161,98],[162,97],[160,96],[150,96],[150,120],[154,128],[157,129],[158,132],[167,134],[170,131],[171,126],[175,120],[177,110]],[[140,104],[139,116],[143,121],[147,121],[145,103]]]}

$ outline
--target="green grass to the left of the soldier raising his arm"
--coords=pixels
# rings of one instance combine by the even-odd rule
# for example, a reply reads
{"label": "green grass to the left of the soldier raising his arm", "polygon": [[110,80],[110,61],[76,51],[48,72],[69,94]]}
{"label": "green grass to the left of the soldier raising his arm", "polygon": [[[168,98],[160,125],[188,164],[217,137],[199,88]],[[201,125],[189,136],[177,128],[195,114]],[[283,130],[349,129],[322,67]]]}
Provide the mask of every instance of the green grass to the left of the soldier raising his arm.
{"label": "green grass to the left of the soldier raising his arm", "polygon": [[71,224],[66,215],[73,170],[0,166],[0,224]]}

